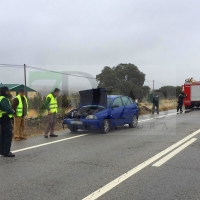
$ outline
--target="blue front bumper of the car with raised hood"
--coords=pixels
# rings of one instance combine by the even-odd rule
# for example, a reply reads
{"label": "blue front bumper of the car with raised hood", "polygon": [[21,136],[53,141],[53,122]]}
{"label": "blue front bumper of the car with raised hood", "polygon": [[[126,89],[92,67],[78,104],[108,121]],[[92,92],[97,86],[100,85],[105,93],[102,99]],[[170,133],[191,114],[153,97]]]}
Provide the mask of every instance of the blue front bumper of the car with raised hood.
{"label": "blue front bumper of the car with raised hood", "polygon": [[98,130],[101,129],[101,121],[98,119],[64,119],[63,126],[67,125],[67,127],[76,126],[78,129],[82,130]]}

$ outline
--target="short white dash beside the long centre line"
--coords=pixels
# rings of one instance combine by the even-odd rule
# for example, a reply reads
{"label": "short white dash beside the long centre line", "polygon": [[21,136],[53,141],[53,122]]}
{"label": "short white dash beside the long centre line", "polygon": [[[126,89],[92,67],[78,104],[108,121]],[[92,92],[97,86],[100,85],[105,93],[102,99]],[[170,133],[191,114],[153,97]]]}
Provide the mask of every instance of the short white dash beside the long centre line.
{"label": "short white dash beside the long centre line", "polygon": [[163,165],[164,163],[166,163],[168,160],[170,160],[171,158],[173,158],[176,154],[180,153],[182,150],[184,150],[186,147],[188,147],[189,145],[191,145],[196,140],[197,140],[197,138],[192,138],[191,140],[189,140],[188,142],[186,142],[185,144],[183,144],[179,148],[175,149],[174,151],[172,151],[170,154],[168,154],[164,158],[160,159],[158,162],[156,162],[152,166],[154,166],[154,167],[160,167],[161,165]]}

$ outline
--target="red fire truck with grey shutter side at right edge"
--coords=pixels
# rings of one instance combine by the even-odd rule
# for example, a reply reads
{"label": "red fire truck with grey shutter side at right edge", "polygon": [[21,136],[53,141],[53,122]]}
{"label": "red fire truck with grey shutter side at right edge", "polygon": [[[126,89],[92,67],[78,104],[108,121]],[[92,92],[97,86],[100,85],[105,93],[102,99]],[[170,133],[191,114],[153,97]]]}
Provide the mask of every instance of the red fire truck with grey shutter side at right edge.
{"label": "red fire truck with grey shutter side at right edge", "polygon": [[184,93],[187,97],[184,99],[185,109],[191,109],[200,106],[200,81],[185,82],[183,85]]}

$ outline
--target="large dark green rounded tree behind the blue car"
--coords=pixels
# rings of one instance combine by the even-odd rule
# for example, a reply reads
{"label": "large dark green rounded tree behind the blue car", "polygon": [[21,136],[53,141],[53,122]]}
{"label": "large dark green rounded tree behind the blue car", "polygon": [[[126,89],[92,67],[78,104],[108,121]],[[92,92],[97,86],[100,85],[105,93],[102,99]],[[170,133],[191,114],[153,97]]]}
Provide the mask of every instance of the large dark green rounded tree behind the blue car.
{"label": "large dark green rounded tree behind the blue car", "polygon": [[108,94],[122,94],[141,101],[150,88],[144,86],[145,74],[134,64],[119,64],[104,67],[96,76],[98,87],[106,88]]}

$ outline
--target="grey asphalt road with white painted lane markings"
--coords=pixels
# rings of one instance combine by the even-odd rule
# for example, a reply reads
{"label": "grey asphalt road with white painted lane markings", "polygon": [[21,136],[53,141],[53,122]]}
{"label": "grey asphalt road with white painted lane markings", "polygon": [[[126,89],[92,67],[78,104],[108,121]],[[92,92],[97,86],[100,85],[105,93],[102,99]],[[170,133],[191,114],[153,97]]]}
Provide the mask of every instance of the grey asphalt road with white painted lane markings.
{"label": "grey asphalt road with white painted lane markings", "polygon": [[0,200],[200,200],[200,111],[173,113],[105,135],[13,141],[16,157],[0,157]]}

